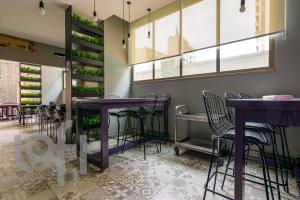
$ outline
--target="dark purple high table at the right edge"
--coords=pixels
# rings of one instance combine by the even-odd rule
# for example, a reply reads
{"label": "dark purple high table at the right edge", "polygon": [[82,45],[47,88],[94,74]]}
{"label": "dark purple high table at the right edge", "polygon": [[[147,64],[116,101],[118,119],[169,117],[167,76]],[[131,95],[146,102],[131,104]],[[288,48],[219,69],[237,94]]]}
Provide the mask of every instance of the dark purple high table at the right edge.
{"label": "dark purple high table at the right edge", "polygon": [[300,99],[291,101],[236,99],[227,100],[227,106],[235,108],[234,199],[241,200],[244,194],[245,122],[300,126]]}

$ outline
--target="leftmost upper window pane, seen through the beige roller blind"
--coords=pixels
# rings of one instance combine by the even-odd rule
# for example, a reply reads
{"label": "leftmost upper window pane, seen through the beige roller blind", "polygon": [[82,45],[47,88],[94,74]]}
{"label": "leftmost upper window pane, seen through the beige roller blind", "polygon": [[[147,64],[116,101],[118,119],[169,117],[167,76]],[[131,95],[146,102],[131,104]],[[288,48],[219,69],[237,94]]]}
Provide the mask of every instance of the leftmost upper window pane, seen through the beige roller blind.
{"label": "leftmost upper window pane, seen through the beige roller blind", "polygon": [[[137,29],[134,29],[132,34],[134,39],[133,48],[131,51],[131,62],[132,63],[141,63],[149,60],[153,60],[153,39],[152,39],[152,27],[153,24],[147,24],[141,26]],[[150,38],[148,38],[148,31],[150,29]]]}

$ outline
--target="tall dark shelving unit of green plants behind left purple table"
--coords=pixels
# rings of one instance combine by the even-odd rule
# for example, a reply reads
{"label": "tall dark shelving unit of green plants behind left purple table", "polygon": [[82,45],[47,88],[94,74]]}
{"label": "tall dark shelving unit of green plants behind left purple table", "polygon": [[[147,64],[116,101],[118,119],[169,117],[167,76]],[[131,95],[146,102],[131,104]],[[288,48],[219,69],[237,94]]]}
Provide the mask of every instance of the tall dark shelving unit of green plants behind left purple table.
{"label": "tall dark shelving unit of green plants behind left purple table", "polygon": [[[92,19],[72,13],[72,6],[65,10],[65,22],[65,55],[66,68],[68,69],[66,71],[66,118],[74,122],[76,118],[74,100],[104,97],[104,75],[97,73],[97,70],[104,68],[104,62],[101,58],[104,56],[104,45],[102,44],[104,30],[103,24],[97,25]],[[77,51],[78,54],[74,55],[74,51]],[[97,60],[85,58],[84,56],[87,55],[94,56]],[[99,57],[101,61],[98,60]],[[78,68],[81,68],[82,71],[76,71]],[[94,71],[91,73],[92,76],[85,74],[89,70]],[[103,93],[80,92],[73,90],[75,86],[82,88],[83,91],[85,89],[88,91],[90,87],[94,87],[97,88],[96,91],[103,91]],[[95,115],[99,116],[99,113]]]}

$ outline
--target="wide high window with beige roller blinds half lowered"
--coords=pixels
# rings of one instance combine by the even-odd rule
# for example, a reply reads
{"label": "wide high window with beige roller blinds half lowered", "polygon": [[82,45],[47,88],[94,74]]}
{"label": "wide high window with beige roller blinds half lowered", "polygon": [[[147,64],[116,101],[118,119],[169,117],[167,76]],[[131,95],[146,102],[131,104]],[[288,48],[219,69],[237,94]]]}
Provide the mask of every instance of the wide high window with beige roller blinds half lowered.
{"label": "wide high window with beige roller blinds half lowered", "polygon": [[241,13],[240,0],[177,0],[133,22],[133,80],[270,70],[285,0],[246,2]]}

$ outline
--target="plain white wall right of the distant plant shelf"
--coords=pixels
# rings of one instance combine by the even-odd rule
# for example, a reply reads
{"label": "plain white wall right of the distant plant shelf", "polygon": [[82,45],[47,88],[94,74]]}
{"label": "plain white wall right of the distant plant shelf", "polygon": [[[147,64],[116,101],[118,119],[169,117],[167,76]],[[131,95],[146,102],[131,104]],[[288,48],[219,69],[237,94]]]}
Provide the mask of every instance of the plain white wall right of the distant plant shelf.
{"label": "plain white wall right of the distant plant shelf", "polygon": [[62,103],[63,68],[42,66],[42,104]]}

